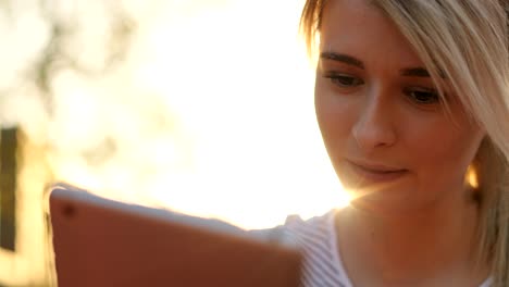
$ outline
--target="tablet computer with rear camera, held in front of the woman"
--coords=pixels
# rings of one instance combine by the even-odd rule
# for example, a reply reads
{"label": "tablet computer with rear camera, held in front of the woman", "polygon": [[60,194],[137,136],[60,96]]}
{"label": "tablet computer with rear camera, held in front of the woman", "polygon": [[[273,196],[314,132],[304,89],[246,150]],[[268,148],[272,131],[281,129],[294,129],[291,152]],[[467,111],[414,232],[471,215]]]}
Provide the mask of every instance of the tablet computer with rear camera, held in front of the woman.
{"label": "tablet computer with rear camera, held in front of the woman", "polygon": [[57,279],[82,286],[296,287],[299,252],[235,226],[67,185],[49,197]]}

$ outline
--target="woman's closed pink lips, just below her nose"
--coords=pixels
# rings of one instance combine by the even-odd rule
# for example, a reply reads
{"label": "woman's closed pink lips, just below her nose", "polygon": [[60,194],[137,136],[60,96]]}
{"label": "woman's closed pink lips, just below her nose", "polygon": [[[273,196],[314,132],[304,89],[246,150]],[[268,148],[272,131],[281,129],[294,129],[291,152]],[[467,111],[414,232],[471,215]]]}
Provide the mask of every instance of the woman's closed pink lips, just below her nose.
{"label": "woman's closed pink lips, just below her nose", "polygon": [[368,182],[392,182],[408,173],[408,170],[359,161],[348,161],[357,176]]}

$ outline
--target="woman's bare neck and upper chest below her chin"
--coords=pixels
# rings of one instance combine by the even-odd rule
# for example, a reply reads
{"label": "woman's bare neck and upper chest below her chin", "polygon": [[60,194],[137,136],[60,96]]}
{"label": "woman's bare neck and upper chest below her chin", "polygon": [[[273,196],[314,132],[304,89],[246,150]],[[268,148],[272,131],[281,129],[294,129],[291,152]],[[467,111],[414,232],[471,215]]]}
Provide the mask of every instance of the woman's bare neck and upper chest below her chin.
{"label": "woman's bare neck and upper chest below her chin", "polygon": [[[342,212],[339,250],[348,273],[362,273],[360,277],[388,286],[418,286],[415,282],[421,279],[472,274],[476,267],[471,264],[476,262],[476,203],[456,198],[430,205],[401,214],[373,213],[355,205]],[[373,286],[368,283],[359,286]]]}

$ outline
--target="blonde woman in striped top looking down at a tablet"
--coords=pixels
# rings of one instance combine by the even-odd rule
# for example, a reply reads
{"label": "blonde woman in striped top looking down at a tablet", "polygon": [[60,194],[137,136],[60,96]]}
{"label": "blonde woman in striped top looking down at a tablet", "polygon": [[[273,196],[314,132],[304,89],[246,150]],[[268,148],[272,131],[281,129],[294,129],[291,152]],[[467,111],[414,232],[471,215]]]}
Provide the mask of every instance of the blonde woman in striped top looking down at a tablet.
{"label": "blonde woman in striped top looking down at a tablet", "polygon": [[506,5],[307,0],[316,117],[353,200],[285,224],[306,286],[509,286]]}

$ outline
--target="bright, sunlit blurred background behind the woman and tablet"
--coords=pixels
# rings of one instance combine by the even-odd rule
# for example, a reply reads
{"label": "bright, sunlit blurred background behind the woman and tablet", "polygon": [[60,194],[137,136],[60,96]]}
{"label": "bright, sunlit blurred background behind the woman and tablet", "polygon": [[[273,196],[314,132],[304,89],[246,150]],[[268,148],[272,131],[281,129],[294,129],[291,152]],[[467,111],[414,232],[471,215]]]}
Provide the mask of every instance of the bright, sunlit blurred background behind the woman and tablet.
{"label": "bright, sunlit blurred background behind the woman and tablet", "polygon": [[243,228],[344,205],[303,1],[0,2],[0,286],[48,286],[66,182]]}

